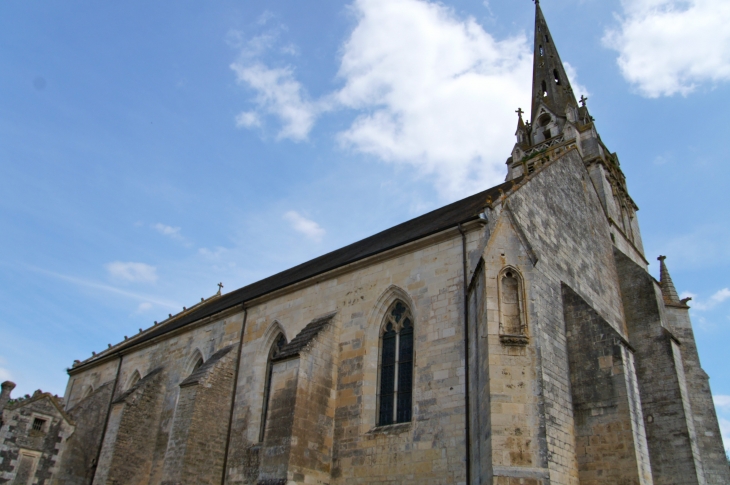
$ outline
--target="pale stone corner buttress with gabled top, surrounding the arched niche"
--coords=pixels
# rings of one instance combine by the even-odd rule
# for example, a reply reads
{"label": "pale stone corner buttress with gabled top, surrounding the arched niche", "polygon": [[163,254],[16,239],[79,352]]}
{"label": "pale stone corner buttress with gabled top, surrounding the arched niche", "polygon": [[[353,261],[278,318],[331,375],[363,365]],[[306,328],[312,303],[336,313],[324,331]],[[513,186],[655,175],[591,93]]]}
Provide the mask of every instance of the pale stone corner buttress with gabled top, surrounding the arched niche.
{"label": "pale stone corner buttress with gabled top, surrounding the arched niche", "polygon": [[[471,357],[478,362],[472,375],[474,385],[481,388],[474,406],[480,432],[473,433],[481,457],[475,460],[471,483],[525,480],[546,484],[550,479],[549,451],[534,300],[539,274],[513,219],[503,215],[490,228],[483,252],[484,301],[476,302],[476,315],[471,309],[469,312],[476,325],[471,339],[476,348]],[[506,269],[518,274],[522,283],[520,312],[526,325],[522,343],[503,341],[500,278]],[[482,293],[479,286],[476,280],[473,290],[477,295]]]}

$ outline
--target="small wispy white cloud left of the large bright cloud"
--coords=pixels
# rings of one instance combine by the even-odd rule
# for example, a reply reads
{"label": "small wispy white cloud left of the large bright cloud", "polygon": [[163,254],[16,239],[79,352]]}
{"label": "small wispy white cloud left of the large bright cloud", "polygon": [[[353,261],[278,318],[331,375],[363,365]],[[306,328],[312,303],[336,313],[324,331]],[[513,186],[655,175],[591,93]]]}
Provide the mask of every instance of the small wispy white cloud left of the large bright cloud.
{"label": "small wispy white cloud left of the large bright cloud", "polygon": [[[256,91],[258,108],[281,119],[283,126],[278,135],[280,139],[306,140],[318,110],[305,99],[302,85],[294,79],[291,68],[269,68],[242,56],[231,64],[231,69],[235,71],[239,83],[248,84]],[[236,124],[250,128],[256,126],[253,121],[257,119],[251,112],[241,113],[236,117]],[[252,123],[246,124],[246,121]]]}

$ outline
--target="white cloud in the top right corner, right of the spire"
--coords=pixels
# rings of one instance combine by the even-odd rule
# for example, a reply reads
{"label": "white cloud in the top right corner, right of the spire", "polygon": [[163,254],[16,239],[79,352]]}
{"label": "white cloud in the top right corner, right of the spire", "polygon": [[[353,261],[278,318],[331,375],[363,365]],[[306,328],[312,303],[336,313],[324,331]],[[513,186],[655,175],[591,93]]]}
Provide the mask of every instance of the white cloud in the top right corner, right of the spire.
{"label": "white cloud in the top right corner, right of the spire", "polygon": [[730,80],[730,2],[622,0],[618,29],[603,41],[619,52],[624,78],[647,97],[687,95]]}

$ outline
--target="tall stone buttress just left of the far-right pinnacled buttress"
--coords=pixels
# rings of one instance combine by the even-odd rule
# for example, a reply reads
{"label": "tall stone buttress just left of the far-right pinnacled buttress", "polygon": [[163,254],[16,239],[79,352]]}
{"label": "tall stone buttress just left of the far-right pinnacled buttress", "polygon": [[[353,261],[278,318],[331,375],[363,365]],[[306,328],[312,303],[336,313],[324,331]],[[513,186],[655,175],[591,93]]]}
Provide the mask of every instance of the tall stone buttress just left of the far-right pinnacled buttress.
{"label": "tall stone buttress just left of the far-right pinnacled buttress", "polygon": [[654,483],[706,483],[676,337],[651,276],[616,250]]}

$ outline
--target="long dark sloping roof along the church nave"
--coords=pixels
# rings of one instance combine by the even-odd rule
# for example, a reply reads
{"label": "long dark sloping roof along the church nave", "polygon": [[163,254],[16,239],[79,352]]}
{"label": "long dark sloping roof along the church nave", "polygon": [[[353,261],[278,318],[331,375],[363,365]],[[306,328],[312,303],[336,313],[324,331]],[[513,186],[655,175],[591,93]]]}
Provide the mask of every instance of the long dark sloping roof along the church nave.
{"label": "long dark sloping roof along the church nave", "polygon": [[[456,227],[460,223],[474,220],[479,217],[479,214],[487,206],[487,199],[497,200],[502,192],[508,192],[511,187],[521,180],[522,177],[510,180],[509,182],[466,197],[465,199],[451,203],[440,209],[411,219],[410,221],[398,224],[349,246],[337,249],[336,251],[282,271],[281,273],[264,278],[256,283],[244,286],[243,288],[217,297],[210,302],[206,301],[204,305],[198,308],[190,308],[185,314],[175,316],[172,321],[153,327],[130,342],[122,343],[114,349],[114,353],[147,342],[160,335],[185,327],[200,319],[215,315],[236,305],[241,305],[267,293],[272,293],[341,266]],[[77,365],[74,369],[81,369],[105,355],[109,355],[109,352],[88,359],[80,365]]]}

